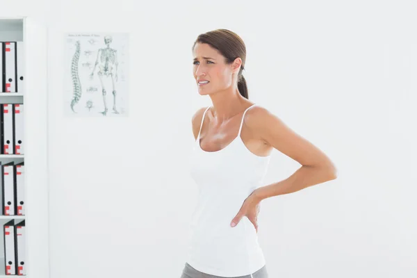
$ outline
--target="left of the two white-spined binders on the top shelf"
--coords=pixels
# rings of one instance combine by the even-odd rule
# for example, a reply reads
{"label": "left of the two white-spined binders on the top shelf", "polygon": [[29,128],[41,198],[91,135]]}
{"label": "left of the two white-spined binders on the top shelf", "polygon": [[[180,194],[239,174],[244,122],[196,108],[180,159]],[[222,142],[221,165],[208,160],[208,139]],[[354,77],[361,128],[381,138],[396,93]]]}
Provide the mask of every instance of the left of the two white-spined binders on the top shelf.
{"label": "left of the two white-spined binders on the top shelf", "polygon": [[17,71],[16,71],[16,42],[3,42],[5,72],[5,92],[17,92]]}

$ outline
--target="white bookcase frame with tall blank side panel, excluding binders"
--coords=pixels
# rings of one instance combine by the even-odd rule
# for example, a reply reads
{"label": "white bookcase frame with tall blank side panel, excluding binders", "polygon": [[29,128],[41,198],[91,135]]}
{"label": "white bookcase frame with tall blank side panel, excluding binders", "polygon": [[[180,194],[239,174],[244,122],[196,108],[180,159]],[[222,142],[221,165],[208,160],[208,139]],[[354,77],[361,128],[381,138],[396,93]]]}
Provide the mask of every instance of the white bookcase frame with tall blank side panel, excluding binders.
{"label": "white bookcase frame with tall blank side panel, excluding binders", "polygon": [[[12,3],[12,2],[10,2]],[[6,275],[0,243],[0,278],[49,278],[49,188],[47,153],[47,22],[32,9],[13,3],[0,9],[0,41],[24,43],[23,90],[3,92],[0,104],[24,104],[24,152],[0,154],[4,163],[24,162],[25,215],[0,215],[0,223],[24,220],[26,275]],[[0,242],[3,242],[3,225]]]}

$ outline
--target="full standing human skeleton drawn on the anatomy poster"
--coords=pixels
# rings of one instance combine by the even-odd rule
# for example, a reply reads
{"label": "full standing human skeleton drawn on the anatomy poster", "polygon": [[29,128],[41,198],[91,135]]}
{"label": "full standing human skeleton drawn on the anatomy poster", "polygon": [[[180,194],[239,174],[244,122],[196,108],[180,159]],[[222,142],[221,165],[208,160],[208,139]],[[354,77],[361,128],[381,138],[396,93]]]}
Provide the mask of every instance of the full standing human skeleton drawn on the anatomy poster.
{"label": "full standing human skeleton drawn on the anatomy poster", "polygon": [[116,87],[115,83],[117,81],[117,50],[110,48],[110,44],[113,41],[111,36],[104,37],[104,43],[107,47],[99,49],[97,52],[97,60],[95,62],[92,73],[90,74],[90,79],[94,76],[95,69],[98,65],[99,71],[97,75],[99,76],[101,83],[101,90],[103,92],[103,101],[104,101],[104,111],[101,112],[103,115],[107,114],[108,108],[106,103],[106,88],[104,88],[103,78],[111,77],[113,84],[113,113],[119,113],[116,109]]}

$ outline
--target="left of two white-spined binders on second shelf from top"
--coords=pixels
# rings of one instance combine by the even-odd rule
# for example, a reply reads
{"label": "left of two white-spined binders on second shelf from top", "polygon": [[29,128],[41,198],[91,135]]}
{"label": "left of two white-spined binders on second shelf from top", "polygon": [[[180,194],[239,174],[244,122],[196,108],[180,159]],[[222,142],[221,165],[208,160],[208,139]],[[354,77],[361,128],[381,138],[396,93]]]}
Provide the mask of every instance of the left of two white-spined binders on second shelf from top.
{"label": "left of two white-spined binders on second shelf from top", "polygon": [[13,144],[13,104],[1,104],[1,141],[2,154],[14,154]]}

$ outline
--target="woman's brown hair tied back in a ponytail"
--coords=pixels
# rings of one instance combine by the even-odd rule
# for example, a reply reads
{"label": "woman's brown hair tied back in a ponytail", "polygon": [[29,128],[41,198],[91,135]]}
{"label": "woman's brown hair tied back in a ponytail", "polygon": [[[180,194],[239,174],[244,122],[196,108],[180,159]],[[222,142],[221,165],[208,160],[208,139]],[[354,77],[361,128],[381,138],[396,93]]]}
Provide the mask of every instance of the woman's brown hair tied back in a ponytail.
{"label": "woman's brown hair tied back in a ponytail", "polygon": [[200,34],[193,44],[193,50],[197,43],[209,44],[214,49],[217,49],[224,56],[227,64],[233,63],[238,57],[242,59],[242,65],[238,74],[238,90],[240,95],[249,99],[246,80],[242,74],[242,71],[245,70],[244,65],[246,60],[246,46],[242,38],[227,29],[217,29]]}

